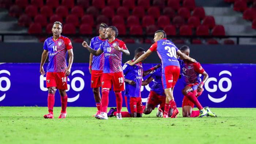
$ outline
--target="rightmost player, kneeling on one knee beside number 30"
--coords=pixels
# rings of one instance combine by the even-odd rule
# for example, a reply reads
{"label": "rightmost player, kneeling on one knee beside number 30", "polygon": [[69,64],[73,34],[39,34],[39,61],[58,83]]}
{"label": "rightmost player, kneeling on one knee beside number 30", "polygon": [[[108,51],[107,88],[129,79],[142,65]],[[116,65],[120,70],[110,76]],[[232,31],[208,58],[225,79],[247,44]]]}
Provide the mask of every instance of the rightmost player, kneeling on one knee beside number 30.
{"label": "rightmost player, kneeling on one knee beside number 30", "polygon": [[[189,56],[190,49],[188,46],[182,46],[180,51],[187,56]],[[208,79],[208,74],[199,62],[191,62],[188,60],[180,60],[180,65],[182,68],[181,76],[186,84],[185,88],[182,89],[182,94],[184,95],[182,101],[182,116],[183,117],[216,117],[214,113],[211,112],[209,107],[202,107],[197,97],[203,92],[203,85]],[[199,75],[204,76],[203,81]],[[193,110],[194,105],[199,110]]]}

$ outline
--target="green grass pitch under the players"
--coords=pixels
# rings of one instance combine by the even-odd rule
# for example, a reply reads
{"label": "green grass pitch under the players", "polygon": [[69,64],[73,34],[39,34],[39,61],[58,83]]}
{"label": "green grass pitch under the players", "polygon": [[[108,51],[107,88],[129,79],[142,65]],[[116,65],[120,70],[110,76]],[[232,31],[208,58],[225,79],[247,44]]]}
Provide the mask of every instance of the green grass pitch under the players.
{"label": "green grass pitch under the players", "polygon": [[[126,110],[124,107],[123,110]],[[181,112],[181,109],[179,109]],[[47,107],[0,107],[1,144],[256,144],[256,109],[212,108],[218,117],[97,120],[95,107],[68,107],[67,118],[44,119]]]}

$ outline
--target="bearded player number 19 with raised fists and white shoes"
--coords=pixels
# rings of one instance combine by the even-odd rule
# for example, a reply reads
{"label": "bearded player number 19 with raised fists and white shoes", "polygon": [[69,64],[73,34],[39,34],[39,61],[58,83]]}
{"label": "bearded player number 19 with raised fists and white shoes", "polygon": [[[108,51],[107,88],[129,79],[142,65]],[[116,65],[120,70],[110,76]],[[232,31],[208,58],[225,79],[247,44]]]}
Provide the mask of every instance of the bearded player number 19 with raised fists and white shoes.
{"label": "bearded player number 19 with raised fists and white shoes", "polygon": [[83,42],[82,45],[94,56],[98,56],[104,52],[104,68],[102,74],[102,99],[101,99],[101,114],[95,115],[97,119],[108,119],[108,96],[109,90],[113,84],[113,90],[116,95],[117,103],[117,119],[121,120],[122,109],[122,93],[124,91],[124,73],[122,69],[122,54],[129,55],[125,43],[117,39],[118,30],[114,26],[108,27],[105,32],[106,41],[101,43],[98,50],[90,48],[87,42]]}

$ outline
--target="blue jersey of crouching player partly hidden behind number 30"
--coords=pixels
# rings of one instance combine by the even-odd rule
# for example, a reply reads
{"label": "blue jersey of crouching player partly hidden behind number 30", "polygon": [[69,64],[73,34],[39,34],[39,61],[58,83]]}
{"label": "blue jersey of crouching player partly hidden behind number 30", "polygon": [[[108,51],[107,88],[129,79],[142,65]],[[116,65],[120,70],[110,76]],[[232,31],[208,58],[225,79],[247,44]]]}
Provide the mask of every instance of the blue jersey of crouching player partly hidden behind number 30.
{"label": "blue jersey of crouching player partly hidden behind number 30", "polygon": [[162,84],[162,67],[159,67],[152,71],[150,76],[154,78],[153,86],[151,86],[151,91],[154,91],[158,95],[165,96],[165,91],[163,90]]}

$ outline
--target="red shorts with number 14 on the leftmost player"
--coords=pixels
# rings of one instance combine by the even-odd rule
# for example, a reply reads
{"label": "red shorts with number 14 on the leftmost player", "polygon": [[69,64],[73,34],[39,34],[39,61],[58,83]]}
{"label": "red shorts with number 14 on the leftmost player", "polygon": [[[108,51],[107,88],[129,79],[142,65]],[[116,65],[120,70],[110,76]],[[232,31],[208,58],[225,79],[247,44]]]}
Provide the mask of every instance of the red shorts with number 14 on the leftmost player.
{"label": "red shorts with number 14 on the leftmost player", "polygon": [[68,77],[65,72],[46,72],[46,87],[56,87],[59,90],[67,90]]}

